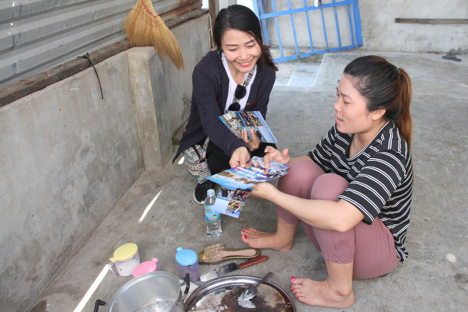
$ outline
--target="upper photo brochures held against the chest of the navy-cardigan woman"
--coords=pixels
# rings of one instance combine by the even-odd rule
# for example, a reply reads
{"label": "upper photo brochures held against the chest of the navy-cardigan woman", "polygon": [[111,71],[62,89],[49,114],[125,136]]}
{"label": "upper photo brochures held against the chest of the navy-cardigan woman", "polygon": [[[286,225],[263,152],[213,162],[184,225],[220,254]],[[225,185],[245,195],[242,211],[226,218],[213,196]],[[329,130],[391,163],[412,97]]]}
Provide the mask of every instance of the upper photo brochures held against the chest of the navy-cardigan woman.
{"label": "upper photo brochures held against the chest of the navy-cardigan woman", "polygon": [[258,142],[277,143],[275,136],[268,128],[262,114],[259,111],[255,112],[233,112],[225,111],[224,115],[219,116],[219,119],[224,122],[227,128],[238,138],[242,138],[242,129],[247,128],[249,141],[252,142],[250,129],[252,129],[257,137]]}

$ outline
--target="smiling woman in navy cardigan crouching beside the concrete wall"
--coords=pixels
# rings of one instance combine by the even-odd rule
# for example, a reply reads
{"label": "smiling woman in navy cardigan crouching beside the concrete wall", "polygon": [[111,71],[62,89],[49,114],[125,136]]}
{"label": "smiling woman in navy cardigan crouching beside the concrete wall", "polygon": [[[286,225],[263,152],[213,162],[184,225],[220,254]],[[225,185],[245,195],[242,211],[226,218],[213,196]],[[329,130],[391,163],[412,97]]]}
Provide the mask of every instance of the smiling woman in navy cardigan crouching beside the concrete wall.
{"label": "smiling woman in navy cardigan crouching beside the concrete wall", "polygon": [[[213,27],[216,51],[208,52],[192,74],[190,117],[174,160],[208,137],[206,159],[212,174],[245,166],[251,156],[265,155],[266,143],[237,138],[219,119],[224,110],[260,111],[266,119],[275,71],[270,47],[263,44],[260,21],[248,7],[231,5],[219,11]],[[246,82],[248,83],[246,85]],[[255,135],[252,135],[255,137]],[[204,204],[211,181],[198,184],[193,198]]]}

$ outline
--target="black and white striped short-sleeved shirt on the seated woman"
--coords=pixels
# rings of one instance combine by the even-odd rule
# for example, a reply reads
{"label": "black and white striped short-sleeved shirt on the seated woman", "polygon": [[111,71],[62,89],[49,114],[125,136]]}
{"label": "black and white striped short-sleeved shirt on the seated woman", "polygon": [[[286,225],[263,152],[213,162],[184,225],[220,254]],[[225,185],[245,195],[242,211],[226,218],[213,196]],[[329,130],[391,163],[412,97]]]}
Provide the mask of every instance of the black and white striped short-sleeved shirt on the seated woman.
{"label": "black and white striped short-sleeved shirt on the seated woman", "polygon": [[347,158],[352,138],[353,135],[339,132],[335,124],[307,155],[325,173],[335,173],[350,182],[338,198],[356,206],[364,214],[362,221],[366,224],[379,217],[393,234],[398,258],[405,261],[408,252],[404,243],[413,190],[408,144],[391,121],[365,149]]}

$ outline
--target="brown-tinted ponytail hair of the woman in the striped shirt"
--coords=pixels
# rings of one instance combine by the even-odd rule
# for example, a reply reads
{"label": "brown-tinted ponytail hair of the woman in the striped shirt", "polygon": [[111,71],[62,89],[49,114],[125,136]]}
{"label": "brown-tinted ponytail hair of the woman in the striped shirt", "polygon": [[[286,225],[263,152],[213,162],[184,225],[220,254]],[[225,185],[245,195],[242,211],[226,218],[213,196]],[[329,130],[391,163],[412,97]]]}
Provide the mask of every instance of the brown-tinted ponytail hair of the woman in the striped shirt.
{"label": "brown-tinted ponytail hair of the woman in the striped shirt", "polygon": [[411,79],[402,68],[375,55],[358,57],[346,66],[344,75],[366,99],[369,112],[386,109],[384,118],[393,121],[408,146],[411,146],[413,122],[409,113]]}

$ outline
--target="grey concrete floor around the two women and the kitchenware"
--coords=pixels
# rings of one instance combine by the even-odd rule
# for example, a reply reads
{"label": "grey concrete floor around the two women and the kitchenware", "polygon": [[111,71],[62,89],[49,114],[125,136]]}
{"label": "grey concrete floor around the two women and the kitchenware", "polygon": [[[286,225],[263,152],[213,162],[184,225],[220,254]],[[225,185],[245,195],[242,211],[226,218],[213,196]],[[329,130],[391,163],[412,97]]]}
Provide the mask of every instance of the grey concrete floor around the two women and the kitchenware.
{"label": "grey concrete floor around the two women and the kitchenware", "polygon": [[[349,308],[311,307],[295,300],[297,311],[467,311],[468,56],[458,56],[462,62],[453,62],[442,55],[421,53],[353,50],[326,54],[314,87],[274,87],[267,122],[279,148],[287,147],[292,156],[305,155],[333,123],[335,88],[345,65],[366,54],[386,57],[406,69],[413,82],[414,196],[406,241],[409,259],[384,277],[354,280],[356,302]],[[244,248],[242,228],[275,229],[274,206],[252,197],[239,219],[222,218],[219,239],[208,238],[203,206],[192,199],[194,187],[183,165],[168,164],[160,172],[144,172],[44,291],[33,311],[73,311],[113,251],[124,243],[139,246],[141,261],[157,257],[162,270],[176,274],[174,256],[179,246],[199,251],[220,241],[229,248]],[[159,191],[146,218],[138,222]],[[240,273],[263,276],[273,271],[270,280],[290,294],[291,276],[327,276],[324,260],[303,227],[299,227],[291,251],[264,249],[261,253],[270,259]],[[202,266],[200,273],[216,267]],[[97,298],[108,301],[130,279],[108,273],[83,311],[92,311]]]}

